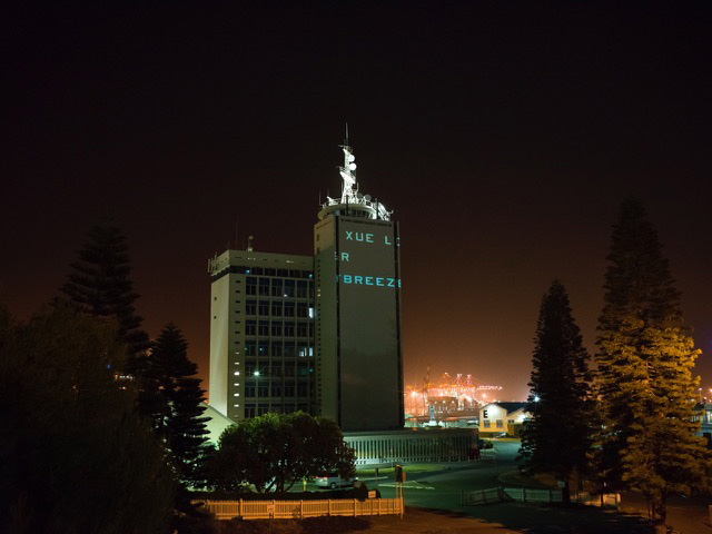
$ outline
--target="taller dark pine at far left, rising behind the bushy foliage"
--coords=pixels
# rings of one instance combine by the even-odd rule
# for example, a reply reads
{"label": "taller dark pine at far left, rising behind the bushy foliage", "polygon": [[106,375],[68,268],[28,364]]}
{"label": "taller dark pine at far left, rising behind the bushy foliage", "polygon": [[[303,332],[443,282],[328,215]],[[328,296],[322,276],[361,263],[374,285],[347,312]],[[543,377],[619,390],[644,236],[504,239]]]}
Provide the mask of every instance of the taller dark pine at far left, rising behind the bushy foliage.
{"label": "taller dark pine at far left, rising behind the bushy foliage", "polygon": [[138,295],[129,279],[127,250],[126,236],[119,228],[108,221],[93,226],[61,291],[80,312],[118,323],[119,340],[128,346],[126,368],[121,370],[137,375],[149,342],[141,329],[144,319],[134,307]]}

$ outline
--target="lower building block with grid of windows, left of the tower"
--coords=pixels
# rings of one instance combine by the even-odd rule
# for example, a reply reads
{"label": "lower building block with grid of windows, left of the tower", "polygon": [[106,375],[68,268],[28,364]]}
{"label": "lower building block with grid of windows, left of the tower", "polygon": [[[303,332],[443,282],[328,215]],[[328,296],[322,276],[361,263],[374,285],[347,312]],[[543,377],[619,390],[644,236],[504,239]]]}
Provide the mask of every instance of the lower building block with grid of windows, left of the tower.
{"label": "lower building block with grid of windows, left of the tower", "polygon": [[313,265],[253,250],[209,260],[209,399],[230,419],[315,412]]}

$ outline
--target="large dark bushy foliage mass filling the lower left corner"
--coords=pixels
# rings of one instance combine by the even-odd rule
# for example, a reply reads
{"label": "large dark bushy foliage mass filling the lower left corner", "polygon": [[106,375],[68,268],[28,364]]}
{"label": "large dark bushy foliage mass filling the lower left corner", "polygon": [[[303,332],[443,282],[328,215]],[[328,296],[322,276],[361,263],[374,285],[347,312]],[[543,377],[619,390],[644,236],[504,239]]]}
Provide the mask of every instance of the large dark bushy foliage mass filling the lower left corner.
{"label": "large dark bushy foliage mass filling the lower left corner", "polygon": [[172,473],[108,368],[125,352],[113,324],[61,301],[0,316],[0,532],[165,532]]}

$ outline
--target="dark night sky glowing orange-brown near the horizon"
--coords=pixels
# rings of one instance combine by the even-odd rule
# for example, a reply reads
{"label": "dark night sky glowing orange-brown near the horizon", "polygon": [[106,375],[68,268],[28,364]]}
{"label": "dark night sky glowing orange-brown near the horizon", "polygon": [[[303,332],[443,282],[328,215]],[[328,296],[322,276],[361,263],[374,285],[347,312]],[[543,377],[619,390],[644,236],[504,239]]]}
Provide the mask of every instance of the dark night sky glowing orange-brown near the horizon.
{"label": "dark night sky glowing orange-brown near the horizon", "polygon": [[553,277],[593,348],[633,194],[712,387],[710,2],[146,3],[3,10],[14,314],[56,295],[113,216],[146,328],[176,322],[207,378],[208,257],[236,219],[240,243],[310,254],[348,119],[362,191],[402,225],[407,382],[432,363],[523,398]]}

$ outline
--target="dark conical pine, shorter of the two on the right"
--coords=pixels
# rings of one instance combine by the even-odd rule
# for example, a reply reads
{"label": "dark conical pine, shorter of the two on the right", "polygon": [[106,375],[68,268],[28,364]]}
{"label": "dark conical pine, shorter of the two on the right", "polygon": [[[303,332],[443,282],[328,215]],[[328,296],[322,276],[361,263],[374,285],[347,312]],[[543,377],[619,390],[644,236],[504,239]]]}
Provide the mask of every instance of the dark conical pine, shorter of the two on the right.
{"label": "dark conical pine, shorter of the two on the right", "polygon": [[534,338],[528,412],[523,428],[522,468],[548,472],[564,481],[586,468],[592,445],[589,355],[572,316],[566,289],[554,280],[542,298]]}

